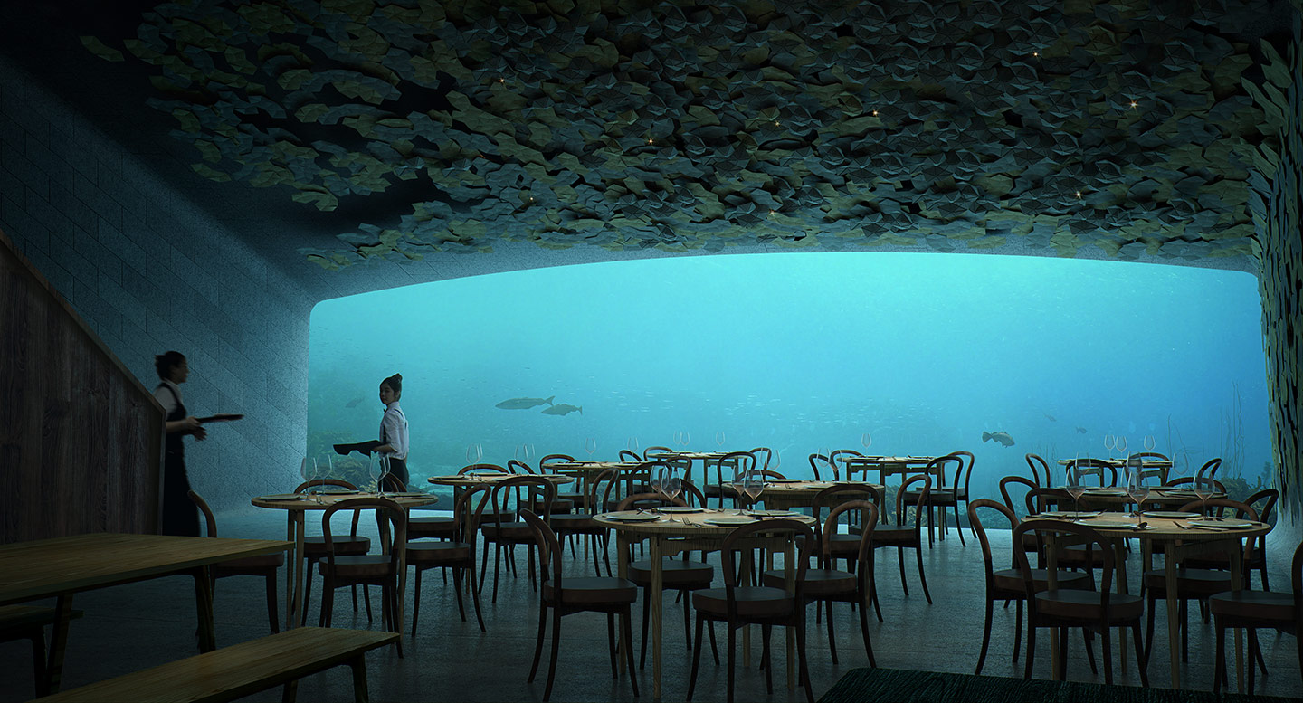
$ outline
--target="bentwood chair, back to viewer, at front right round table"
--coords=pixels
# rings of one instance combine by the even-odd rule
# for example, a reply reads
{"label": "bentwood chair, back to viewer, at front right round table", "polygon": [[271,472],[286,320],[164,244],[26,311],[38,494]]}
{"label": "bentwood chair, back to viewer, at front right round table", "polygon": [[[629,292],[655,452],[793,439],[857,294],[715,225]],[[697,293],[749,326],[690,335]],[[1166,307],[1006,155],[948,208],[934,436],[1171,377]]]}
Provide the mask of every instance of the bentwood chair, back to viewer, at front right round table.
{"label": "bentwood chair, back to viewer, at front right round table", "polygon": [[[1067,631],[1071,627],[1089,627],[1100,633],[1104,641],[1104,681],[1113,683],[1113,654],[1110,633],[1113,627],[1131,627],[1135,639],[1136,668],[1140,669],[1140,685],[1149,686],[1149,674],[1144,647],[1140,639],[1140,617],[1144,614],[1144,601],[1140,596],[1113,592],[1115,570],[1113,549],[1098,532],[1084,525],[1057,519],[1027,519],[1014,529],[1014,543],[1023,535],[1033,532],[1037,536],[1048,534],[1068,534],[1084,540],[1091,552],[1104,557],[1098,590],[1081,591],[1076,588],[1037,590],[1035,572],[1027,562],[1027,552],[1014,549],[1018,569],[1023,575],[1023,598],[1027,599],[1027,665],[1023,678],[1032,677],[1032,663],[1036,657],[1036,630],[1057,627],[1059,631],[1059,673],[1067,676]],[[1087,647],[1089,651],[1089,646]]]}

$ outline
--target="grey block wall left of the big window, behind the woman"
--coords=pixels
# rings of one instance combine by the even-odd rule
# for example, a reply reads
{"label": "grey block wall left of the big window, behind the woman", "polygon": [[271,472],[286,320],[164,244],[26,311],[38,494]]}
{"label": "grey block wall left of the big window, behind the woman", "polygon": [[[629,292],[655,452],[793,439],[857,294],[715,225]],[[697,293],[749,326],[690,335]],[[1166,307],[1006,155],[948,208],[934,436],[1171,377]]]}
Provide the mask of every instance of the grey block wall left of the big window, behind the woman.
{"label": "grey block wall left of the big window, behind the woman", "polygon": [[315,301],[3,59],[0,229],[146,387],[176,349],[192,414],[245,414],[186,448],[215,509],[293,488]]}

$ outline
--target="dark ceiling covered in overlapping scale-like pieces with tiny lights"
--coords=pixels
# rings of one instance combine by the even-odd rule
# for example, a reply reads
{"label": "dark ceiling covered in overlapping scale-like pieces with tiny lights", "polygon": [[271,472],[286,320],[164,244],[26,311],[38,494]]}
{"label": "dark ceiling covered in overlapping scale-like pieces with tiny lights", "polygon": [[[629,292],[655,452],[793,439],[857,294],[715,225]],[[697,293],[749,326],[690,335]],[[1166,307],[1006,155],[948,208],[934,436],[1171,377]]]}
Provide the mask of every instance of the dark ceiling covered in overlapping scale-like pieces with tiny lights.
{"label": "dark ceiling covered in overlapping scale-like pieces with tiny lights", "polygon": [[324,268],[503,240],[1208,260],[1256,255],[1281,5],[193,0],[82,44],[147,70],[194,177],[347,212],[301,249]]}

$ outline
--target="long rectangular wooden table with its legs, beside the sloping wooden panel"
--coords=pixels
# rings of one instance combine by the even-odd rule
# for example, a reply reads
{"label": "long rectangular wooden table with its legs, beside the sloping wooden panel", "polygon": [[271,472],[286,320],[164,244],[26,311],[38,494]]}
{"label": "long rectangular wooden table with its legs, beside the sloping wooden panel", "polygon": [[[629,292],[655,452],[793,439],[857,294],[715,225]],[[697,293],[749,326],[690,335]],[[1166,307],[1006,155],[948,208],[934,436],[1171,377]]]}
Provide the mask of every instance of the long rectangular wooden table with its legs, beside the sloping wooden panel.
{"label": "long rectangular wooden table with its legs, beside the sloping wooden panel", "polygon": [[216,648],[208,566],[291,548],[270,539],[219,539],[98,532],[0,545],[0,605],[56,598],[44,690],[59,691],[73,596],[173,574],[194,577],[199,651]]}

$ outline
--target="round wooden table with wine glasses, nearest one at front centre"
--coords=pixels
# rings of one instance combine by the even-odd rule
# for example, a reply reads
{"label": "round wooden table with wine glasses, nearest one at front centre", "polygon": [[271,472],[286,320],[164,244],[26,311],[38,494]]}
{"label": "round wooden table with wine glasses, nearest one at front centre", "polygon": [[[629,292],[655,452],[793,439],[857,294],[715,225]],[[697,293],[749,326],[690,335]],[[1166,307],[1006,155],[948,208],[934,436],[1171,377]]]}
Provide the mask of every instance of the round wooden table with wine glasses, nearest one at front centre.
{"label": "round wooden table with wine glasses, nearest one at front centre", "polygon": [[[667,513],[658,514],[655,510],[650,512],[624,512],[624,513],[601,513],[594,521],[598,525],[610,527],[616,534],[618,545],[618,558],[619,558],[619,575],[620,578],[629,577],[629,547],[637,542],[648,542],[648,557],[652,562],[652,698],[661,698],[661,674],[662,674],[662,639],[661,639],[661,617],[662,617],[662,595],[661,590],[665,585],[665,574],[662,573],[662,558],[672,557],[681,552],[714,552],[719,551],[723,545],[724,538],[728,536],[739,525],[747,525],[754,522],[756,519],[799,519],[808,525],[814,523],[814,518],[808,516],[801,516],[799,513],[767,514],[765,517],[757,517],[752,519],[745,519],[740,516],[740,510],[734,509],[701,509],[693,513]],[[645,519],[645,514],[654,516],[653,519]],[[672,519],[671,519],[672,518]],[[723,519],[721,519],[723,518]],[[714,525],[711,521],[728,521],[734,519],[730,525]],[[787,572],[787,587],[791,590],[795,585],[796,572],[795,572],[795,547],[790,536],[773,536],[773,538],[757,538],[756,540],[748,540],[748,545],[753,548],[761,548],[770,552],[780,551],[784,555],[783,564]],[[743,578],[749,578],[751,560],[743,560]],[[788,690],[796,689],[796,669],[794,663],[796,661],[796,642],[791,627],[787,633],[787,687]],[[748,631],[743,631],[743,665],[747,664],[749,656],[749,637]],[[618,657],[624,661],[623,657]],[[623,664],[622,664],[623,665]]]}

